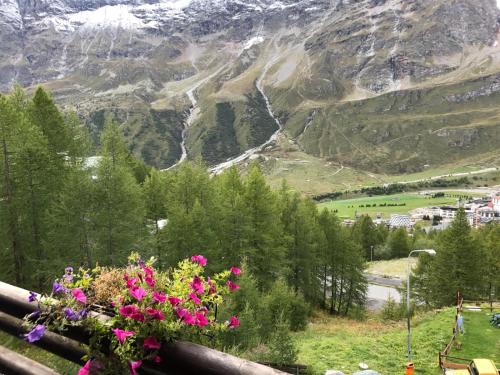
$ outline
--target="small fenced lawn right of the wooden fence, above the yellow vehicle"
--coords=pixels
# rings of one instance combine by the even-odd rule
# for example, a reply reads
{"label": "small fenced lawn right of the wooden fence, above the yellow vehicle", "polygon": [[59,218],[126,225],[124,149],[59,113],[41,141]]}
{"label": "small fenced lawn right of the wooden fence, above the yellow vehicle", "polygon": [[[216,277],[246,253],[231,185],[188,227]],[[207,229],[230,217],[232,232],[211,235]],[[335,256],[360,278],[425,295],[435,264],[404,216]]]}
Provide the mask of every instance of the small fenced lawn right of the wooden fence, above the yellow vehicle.
{"label": "small fenced lawn right of the wooden fence, above the yellow vehicle", "polygon": [[462,348],[454,348],[450,355],[468,359],[488,358],[500,365],[500,329],[489,324],[492,315],[489,311],[464,311],[465,335],[458,338]]}

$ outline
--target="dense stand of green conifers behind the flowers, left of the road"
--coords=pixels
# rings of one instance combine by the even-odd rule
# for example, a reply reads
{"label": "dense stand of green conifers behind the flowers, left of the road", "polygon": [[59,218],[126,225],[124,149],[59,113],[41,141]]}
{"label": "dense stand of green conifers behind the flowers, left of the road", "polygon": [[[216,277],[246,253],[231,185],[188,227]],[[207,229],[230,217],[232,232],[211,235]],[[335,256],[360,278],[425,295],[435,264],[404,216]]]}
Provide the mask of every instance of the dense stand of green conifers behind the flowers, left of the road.
{"label": "dense stand of green conifers behind the flowers, left of the road", "polygon": [[160,268],[193,253],[209,271],[246,264],[259,293],[277,282],[309,306],[348,314],[365,299],[363,250],[334,213],[258,166],[211,177],[199,162],[147,167],[108,117],[97,150],[75,113],[43,88],[0,96],[2,279],[42,291],[68,264],[122,265],[131,251]]}

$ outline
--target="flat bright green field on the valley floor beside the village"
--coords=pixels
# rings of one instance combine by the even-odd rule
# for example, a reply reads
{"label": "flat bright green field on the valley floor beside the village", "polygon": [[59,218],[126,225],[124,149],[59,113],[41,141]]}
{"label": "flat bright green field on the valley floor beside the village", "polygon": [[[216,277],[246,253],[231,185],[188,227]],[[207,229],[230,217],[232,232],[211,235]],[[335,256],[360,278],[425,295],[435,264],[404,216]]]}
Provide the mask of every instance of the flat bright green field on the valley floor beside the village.
{"label": "flat bright green field on the valley floor beside the village", "polygon": [[[388,218],[391,214],[407,214],[416,208],[455,204],[456,202],[457,199],[452,197],[432,198],[418,193],[403,193],[334,200],[320,203],[318,206],[320,209],[328,208],[330,210],[337,210],[337,215],[342,219],[353,219],[356,215],[376,216],[378,214]],[[398,206],[381,207],[381,204],[395,204]],[[403,204],[404,206],[400,206]],[[372,207],[366,207],[366,205]]]}

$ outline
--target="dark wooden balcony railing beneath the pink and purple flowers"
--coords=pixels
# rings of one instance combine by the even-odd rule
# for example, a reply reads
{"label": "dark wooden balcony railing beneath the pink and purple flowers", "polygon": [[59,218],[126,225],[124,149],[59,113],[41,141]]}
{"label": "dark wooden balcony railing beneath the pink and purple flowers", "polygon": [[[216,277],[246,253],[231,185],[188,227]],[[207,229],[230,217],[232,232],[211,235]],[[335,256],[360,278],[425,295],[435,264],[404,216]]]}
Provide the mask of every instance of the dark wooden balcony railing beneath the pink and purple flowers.
{"label": "dark wooden balcony railing beneath the pink and purple flowers", "polygon": [[[28,302],[29,292],[0,282],[0,330],[20,337],[24,332],[22,318],[38,309],[37,303]],[[100,319],[106,319],[93,313]],[[80,327],[69,327],[64,332],[46,331],[35,343],[59,357],[82,365],[85,354],[82,344],[89,342],[89,334]],[[190,342],[174,342],[162,345],[159,353],[162,362],[144,363],[138,370],[145,375],[278,375],[282,371],[247,361],[218,350]],[[15,357],[15,361],[11,359]],[[23,375],[53,375],[55,372],[25,357],[0,347],[0,373]],[[45,371],[45,372],[44,372]]]}

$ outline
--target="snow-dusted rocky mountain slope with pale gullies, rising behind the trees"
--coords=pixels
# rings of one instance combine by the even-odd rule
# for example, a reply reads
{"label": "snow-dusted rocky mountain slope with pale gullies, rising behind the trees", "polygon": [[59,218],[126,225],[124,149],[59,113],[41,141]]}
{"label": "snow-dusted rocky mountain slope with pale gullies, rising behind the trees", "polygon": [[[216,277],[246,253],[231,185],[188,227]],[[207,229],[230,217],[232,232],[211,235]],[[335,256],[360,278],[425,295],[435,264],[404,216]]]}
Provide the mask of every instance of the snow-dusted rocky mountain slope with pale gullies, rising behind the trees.
{"label": "snow-dusted rocky mountain slope with pale gullies, rising behind the trees", "polygon": [[111,112],[160,168],[283,138],[406,173],[498,150],[499,29],[495,0],[0,0],[0,90]]}

